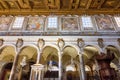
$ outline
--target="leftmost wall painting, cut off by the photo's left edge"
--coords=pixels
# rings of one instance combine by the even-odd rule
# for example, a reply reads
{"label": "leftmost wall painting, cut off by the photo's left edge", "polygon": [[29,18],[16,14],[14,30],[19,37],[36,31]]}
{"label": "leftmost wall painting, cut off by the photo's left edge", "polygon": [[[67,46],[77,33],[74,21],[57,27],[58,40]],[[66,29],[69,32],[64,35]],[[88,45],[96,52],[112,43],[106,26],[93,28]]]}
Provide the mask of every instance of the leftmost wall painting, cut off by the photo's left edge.
{"label": "leftmost wall painting, cut off by the photo's left edge", "polygon": [[0,31],[6,31],[9,29],[11,23],[12,23],[13,17],[8,16],[1,16],[0,17]]}

